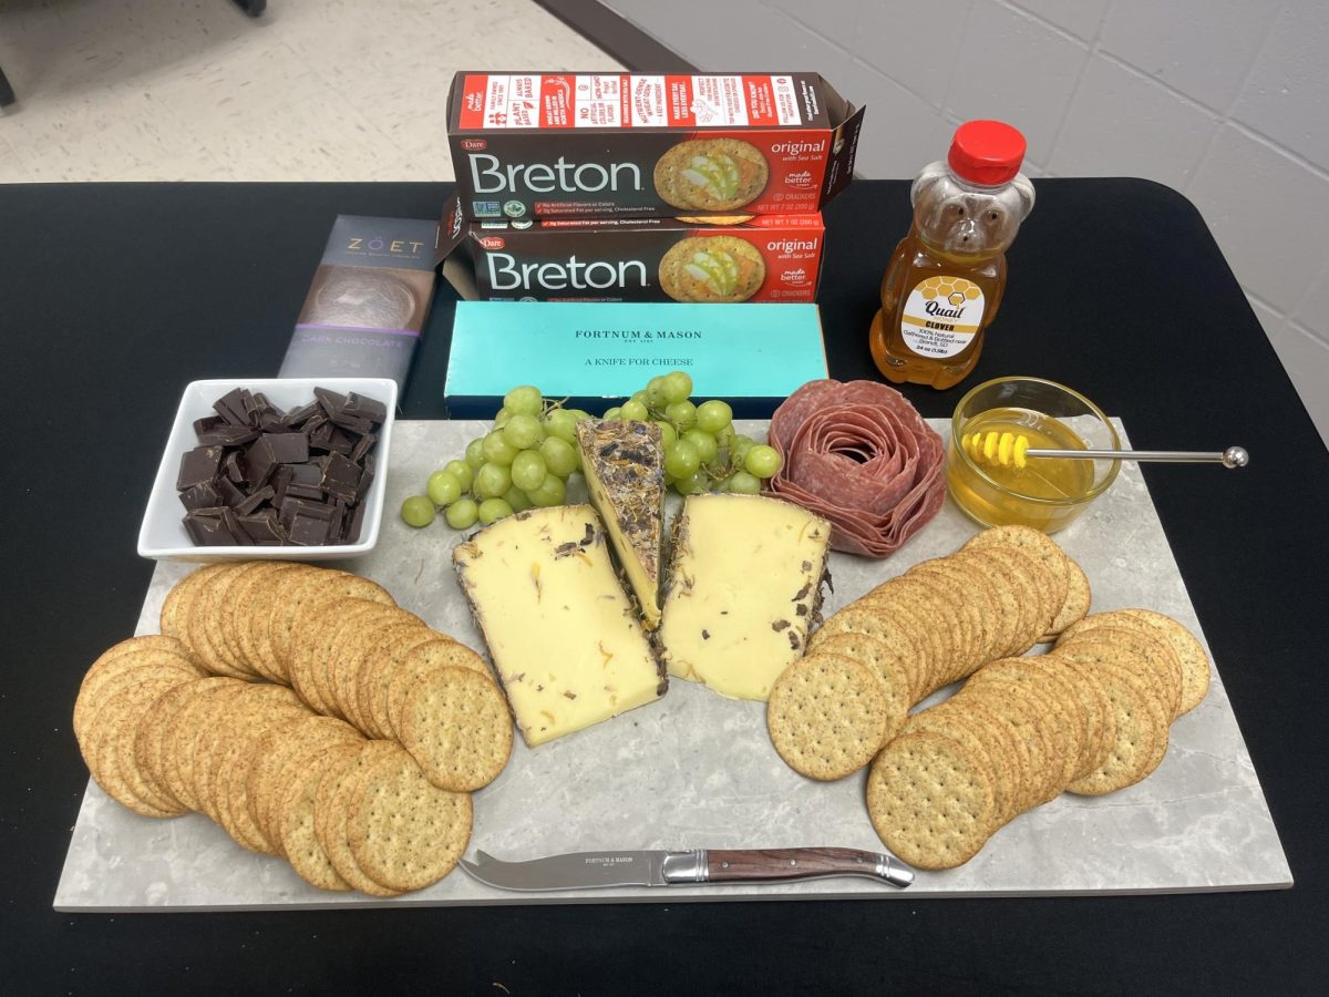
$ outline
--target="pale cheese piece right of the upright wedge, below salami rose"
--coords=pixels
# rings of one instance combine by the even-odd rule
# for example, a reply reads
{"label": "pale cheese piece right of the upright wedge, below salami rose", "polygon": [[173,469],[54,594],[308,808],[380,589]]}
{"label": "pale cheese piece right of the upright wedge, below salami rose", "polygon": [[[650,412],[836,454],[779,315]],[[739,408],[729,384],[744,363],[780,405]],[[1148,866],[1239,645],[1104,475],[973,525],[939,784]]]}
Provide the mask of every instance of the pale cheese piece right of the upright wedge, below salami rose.
{"label": "pale cheese piece right of the upright wedge, below salami rose", "polygon": [[764,701],[807,646],[829,542],[829,522],[779,498],[688,496],[659,630],[670,674]]}

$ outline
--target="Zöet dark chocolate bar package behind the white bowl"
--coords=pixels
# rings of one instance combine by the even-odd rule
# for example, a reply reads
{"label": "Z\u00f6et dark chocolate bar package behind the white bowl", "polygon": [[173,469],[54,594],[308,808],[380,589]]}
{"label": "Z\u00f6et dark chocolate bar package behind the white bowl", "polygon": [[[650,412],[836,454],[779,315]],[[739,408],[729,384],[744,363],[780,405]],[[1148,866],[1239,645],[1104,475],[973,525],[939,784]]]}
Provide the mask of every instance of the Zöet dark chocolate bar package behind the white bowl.
{"label": "Z\u00f6et dark chocolate bar package behind the white bowl", "polygon": [[392,378],[401,388],[433,302],[439,223],[338,215],[279,378]]}

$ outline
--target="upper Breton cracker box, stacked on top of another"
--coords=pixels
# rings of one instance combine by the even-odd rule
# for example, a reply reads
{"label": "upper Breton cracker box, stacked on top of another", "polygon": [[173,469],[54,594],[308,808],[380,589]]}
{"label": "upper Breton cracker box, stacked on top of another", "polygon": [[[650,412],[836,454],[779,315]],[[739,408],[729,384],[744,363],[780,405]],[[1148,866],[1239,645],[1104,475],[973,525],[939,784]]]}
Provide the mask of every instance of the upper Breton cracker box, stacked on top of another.
{"label": "upper Breton cracker box, stacked on top of another", "polygon": [[809,214],[863,126],[816,73],[461,72],[448,138],[472,221]]}

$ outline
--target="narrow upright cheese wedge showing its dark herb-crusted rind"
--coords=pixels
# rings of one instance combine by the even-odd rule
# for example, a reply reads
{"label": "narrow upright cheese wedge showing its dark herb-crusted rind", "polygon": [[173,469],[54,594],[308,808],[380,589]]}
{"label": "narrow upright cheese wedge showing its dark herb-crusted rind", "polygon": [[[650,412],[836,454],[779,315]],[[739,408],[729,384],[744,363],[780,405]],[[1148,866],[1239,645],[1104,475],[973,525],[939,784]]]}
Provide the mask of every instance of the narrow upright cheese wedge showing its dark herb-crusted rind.
{"label": "narrow upright cheese wedge showing its dark herb-crusted rind", "polygon": [[642,622],[661,622],[664,569],[664,445],[655,423],[577,424],[582,475],[591,505],[605,522],[623,576],[637,596]]}

